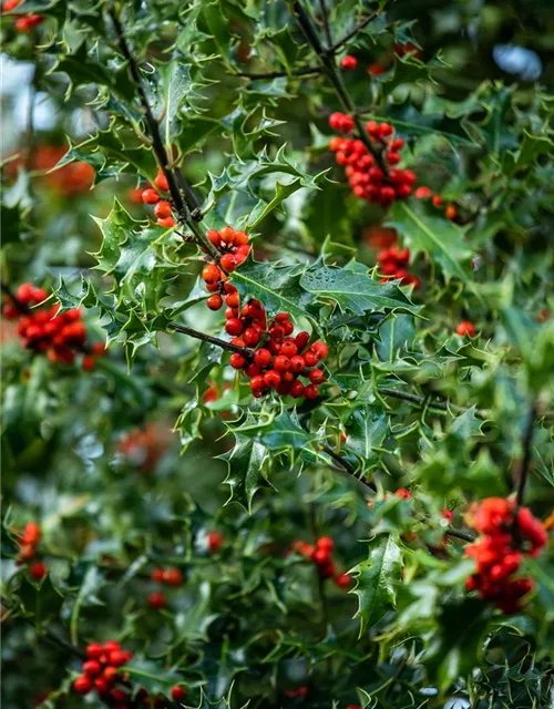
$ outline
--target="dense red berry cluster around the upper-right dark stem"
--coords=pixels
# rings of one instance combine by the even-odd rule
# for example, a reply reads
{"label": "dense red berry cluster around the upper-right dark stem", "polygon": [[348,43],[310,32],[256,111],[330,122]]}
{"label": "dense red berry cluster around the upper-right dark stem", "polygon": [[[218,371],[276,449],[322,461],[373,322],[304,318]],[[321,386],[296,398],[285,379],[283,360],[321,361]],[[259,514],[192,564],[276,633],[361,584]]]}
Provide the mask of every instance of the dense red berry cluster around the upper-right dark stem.
{"label": "dense red berry cluster around the upper-right dark stem", "polygon": [[[329,119],[329,125],[341,133],[350,133],[355,123],[349,115],[334,113]],[[381,153],[390,166],[388,174],[376,165],[373,155],[360,140],[334,137],[329,148],[336,153],[337,163],[346,167],[348,182],[357,197],[381,207],[389,207],[396,199],[406,199],[411,195],[417,179],[416,173],[394,167],[401,161],[400,151],[404,141],[394,137],[394,129],[390,123],[369,121],[366,131],[375,152]]]}

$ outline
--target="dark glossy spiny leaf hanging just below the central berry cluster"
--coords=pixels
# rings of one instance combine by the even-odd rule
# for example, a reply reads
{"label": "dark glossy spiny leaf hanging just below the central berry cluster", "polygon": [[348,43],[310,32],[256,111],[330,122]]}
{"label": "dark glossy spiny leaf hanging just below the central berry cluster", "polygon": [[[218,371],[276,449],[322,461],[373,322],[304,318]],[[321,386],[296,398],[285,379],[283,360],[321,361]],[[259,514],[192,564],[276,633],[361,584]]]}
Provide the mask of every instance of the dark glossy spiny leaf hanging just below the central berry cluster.
{"label": "dark glossy spiny leaf hanging just below the central berry cluster", "polygon": [[267,479],[269,456],[263,443],[235,435],[235,446],[219,456],[227,461],[228,473],[224,483],[230,489],[229,502],[238,502],[248,512],[256,492],[270,485]]}

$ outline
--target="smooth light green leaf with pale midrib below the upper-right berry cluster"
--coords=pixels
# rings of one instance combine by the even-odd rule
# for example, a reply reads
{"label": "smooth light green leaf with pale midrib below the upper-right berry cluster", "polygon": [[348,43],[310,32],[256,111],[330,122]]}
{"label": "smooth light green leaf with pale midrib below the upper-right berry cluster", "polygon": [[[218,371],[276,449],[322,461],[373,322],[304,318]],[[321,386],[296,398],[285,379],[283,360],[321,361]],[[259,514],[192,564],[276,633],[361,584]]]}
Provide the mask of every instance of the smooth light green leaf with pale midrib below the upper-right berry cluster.
{"label": "smooth light green leaf with pale midrib below the upper-right berry cluster", "polygon": [[472,257],[472,251],[464,243],[465,229],[449,219],[424,214],[420,206],[409,206],[397,202],[392,207],[387,225],[403,236],[406,245],[413,255],[423,251],[442,268],[444,279],[452,277],[469,282],[464,265]]}

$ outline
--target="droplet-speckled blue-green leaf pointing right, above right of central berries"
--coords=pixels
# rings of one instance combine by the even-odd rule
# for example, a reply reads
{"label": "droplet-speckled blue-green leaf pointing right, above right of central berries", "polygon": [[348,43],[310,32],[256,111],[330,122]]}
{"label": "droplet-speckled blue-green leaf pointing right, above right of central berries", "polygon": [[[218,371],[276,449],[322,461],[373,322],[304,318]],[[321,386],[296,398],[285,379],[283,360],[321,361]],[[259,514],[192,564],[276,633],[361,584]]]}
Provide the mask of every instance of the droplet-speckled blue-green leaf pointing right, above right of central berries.
{"label": "droplet-speckled blue-green leaf pointing right, above right of central berries", "polygon": [[321,304],[335,302],[342,312],[363,315],[367,311],[401,309],[417,312],[418,308],[394,284],[379,284],[368,268],[350,261],[345,268],[327,266],[321,259],[307,268],[300,286]]}

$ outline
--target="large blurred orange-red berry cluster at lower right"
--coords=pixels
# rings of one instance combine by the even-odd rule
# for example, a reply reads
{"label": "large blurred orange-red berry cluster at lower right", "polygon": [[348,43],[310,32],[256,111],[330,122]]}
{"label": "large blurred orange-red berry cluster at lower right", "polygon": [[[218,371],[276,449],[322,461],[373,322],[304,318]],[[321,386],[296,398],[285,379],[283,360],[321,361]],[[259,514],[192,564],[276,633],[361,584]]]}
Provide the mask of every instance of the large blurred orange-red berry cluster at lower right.
{"label": "large blurred orange-red berry cluster at lower right", "polygon": [[476,564],[465,586],[505,614],[517,613],[533,588],[531,578],[513,577],[523,556],[537,556],[547,541],[543,524],[527,507],[516,511],[516,520],[514,511],[513,500],[489,497],[473,504],[466,515],[468,524],[481,536],[465,548],[465,555]]}

